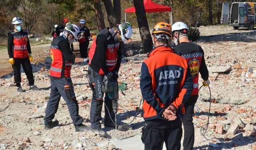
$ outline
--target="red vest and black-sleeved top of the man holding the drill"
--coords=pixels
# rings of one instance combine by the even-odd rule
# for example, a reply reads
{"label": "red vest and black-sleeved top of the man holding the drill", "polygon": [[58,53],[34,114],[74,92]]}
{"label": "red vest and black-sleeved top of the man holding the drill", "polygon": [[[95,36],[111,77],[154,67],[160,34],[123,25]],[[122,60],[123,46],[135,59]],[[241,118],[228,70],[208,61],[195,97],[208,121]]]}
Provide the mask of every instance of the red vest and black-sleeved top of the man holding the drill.
{"label": "red vest and black-sleeved top of the man holding the drill", "polygon": [[88,53],[89,66],[100,75],[118,72],[122,59],[120,42],[114,42],[108,29],[98,33]]}

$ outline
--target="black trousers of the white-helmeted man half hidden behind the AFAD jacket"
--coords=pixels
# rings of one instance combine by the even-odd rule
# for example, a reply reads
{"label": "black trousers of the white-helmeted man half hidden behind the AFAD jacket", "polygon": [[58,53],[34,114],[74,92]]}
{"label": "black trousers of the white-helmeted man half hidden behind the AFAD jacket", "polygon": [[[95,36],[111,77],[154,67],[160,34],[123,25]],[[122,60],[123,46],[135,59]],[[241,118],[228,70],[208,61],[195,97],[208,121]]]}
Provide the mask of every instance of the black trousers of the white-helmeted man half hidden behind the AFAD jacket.
{"label": "black trousers of the white-helmeted man half hidden behind the AFAD jacket", "polygon": [[193,150],[194,140],[195,140],[195,131],[192,115],[194,114],[194,106],[198,99],[198,95],[192,95],[184,104],[185,114],[182,118],[182,124],[184,127],[184,140],[183,148],[184,150]]}

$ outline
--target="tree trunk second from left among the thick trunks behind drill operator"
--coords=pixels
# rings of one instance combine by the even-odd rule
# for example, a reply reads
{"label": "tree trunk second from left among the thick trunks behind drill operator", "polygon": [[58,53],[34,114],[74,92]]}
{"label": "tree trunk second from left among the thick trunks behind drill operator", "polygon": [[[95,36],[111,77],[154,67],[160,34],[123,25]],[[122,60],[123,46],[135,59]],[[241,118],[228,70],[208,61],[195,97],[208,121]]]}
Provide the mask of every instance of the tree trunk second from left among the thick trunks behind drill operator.
{"label": "tree trunk second from left among the thick trunks behind drill operator", "polygon": [[116,26],[117,19],[111,0],[102,0],[108,14],[108,22],[111,27]]}

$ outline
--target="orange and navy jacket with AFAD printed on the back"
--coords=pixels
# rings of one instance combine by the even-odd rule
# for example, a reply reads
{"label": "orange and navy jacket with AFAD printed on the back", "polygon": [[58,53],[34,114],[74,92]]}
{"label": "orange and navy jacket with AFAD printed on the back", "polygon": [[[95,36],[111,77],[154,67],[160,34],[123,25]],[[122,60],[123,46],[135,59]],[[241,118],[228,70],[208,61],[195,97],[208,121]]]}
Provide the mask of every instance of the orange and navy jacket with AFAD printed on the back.
{"label": "orange and navy jacket with AFAD printed on the back", "polygon": [[183,108],[184,113],[183,104],[193,90],[186,60],[164,45],[154,48],[148,57],[142,63],[140,76],[144,120],[166,120],[162,113],[170,105],[176,109]]}

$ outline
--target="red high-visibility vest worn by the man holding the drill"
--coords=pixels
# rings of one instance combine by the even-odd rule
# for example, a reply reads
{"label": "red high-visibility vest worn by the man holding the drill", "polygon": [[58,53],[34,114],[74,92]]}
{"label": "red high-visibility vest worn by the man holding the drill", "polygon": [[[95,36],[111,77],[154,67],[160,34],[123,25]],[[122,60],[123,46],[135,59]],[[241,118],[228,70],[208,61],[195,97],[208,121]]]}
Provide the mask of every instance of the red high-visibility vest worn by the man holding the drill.
{"label": "red high-visibility vest worn by the man holding the drill", "polygon": [[[119,48],[120,42],[117,42],[115,44],[113,42],[110,42],[110,41],[113,41],[113,40],[110,36],[110,32],[108,31],[108,28],[105,28],[102,31],[100,31],[100,33],[98,33],[97,37],[99,35],[104,35],[107,38],[108,46],[107,46],[107,50],[106,50],[106,65],[108,67],[108,70],[110,72],[112,72],[114,70],[114,68],[116,67],[117,58],[118,58],[118,48]],[[89,53],[88,53],[89,65],[91,64],[91,61],[94,57],[94,53],[95,53],[96,46],[97,46],[97,43],[96,43],[97,37],[92,42],[92,46],[91,46],[91,48],[89,50]],[[110,44],[110,43],[113,43],[113,44]],[[98,72],[98,74],[104,75],[104,72],[103,72],[102,68],[100,68],[100,71]]]}

